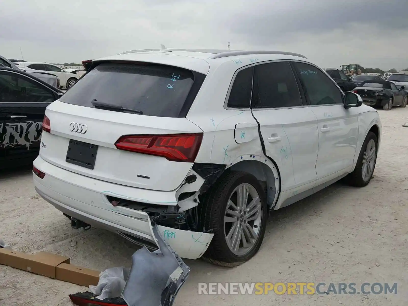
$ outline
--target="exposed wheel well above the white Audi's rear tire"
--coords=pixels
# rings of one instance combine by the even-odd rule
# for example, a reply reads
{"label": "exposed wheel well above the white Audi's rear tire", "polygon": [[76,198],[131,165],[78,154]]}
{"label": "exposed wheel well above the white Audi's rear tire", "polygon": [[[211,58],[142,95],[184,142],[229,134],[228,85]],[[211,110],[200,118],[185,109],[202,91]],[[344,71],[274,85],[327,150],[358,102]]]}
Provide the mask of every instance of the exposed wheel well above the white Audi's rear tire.
{"label": "exposed wheel well above the white Audi's rear tire", "polygon": [[266,164],[257,160],[243,160],[229,168],[231,171],[245,171],[252,174],[261,183],[266,192],[266,202],[270,208],[275,202],[275,197],[278,196],[277,188],[279,188],[279,177],[275,177],[271,168]]}

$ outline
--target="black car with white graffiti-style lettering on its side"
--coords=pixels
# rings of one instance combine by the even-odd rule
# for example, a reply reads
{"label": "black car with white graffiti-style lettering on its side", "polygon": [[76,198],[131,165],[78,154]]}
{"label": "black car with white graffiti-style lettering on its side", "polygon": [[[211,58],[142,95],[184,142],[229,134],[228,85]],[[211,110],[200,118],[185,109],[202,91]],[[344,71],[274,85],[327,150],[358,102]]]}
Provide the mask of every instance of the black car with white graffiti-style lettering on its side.
{"label": "black car with white graffiti-style lettering on its side", "polygon": [[0,67],[0,169],[33,162],[45,108],[62,95],[33,75]]}

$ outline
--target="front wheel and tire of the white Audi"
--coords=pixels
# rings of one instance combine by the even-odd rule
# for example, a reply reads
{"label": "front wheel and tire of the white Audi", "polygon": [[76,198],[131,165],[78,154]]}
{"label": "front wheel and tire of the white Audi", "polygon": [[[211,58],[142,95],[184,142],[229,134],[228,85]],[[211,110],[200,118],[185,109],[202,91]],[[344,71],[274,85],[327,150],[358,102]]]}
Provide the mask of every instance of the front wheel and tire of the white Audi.
{"label": "front wheel and tire of the white Audi", "polygon": [[[370,154],[372,148],[375,149],[373,153],[374,155]],[[373,177],[375,164],[377,162],[377,150],[377,136],[373,132],[368,132],[367,137],[361,146],[361,151],[355,169],[348,175],[348,183],[350,185],[355,187],[364,187],[370,182],[371,177]],[[367,164],[368,162],[369,164]],[[366,167],[365,172],[364,167]],[[364,175],[364,173],[366,173],[366,175]]]}

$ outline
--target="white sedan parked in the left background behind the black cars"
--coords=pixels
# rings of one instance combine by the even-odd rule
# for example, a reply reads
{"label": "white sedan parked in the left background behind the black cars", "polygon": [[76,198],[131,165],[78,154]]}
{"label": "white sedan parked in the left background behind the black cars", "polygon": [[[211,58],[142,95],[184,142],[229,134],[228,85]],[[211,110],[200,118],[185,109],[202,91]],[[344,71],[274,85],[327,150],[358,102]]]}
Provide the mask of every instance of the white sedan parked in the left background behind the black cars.
{"label": "white sedan parked in the left background behind the black cars", "polygon": [[79,75],[75,74],[77,70],[67,71],[53,64],[40,62],[19,62],[14,64],[18,65],[23,71],[25,71],[26,68],[29,68],[32,70],[52,73],[60,79],[60,86],[65,87],[66,89],[69,89],[79,79]]}

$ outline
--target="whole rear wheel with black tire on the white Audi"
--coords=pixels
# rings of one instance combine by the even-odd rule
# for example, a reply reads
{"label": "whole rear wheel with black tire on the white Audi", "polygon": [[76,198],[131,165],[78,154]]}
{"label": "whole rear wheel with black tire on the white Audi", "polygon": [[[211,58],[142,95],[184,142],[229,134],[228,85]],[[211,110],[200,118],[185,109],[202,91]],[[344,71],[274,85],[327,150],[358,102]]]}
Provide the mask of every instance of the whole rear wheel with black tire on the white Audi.
{"label": "whole rear wheel with black tire on the white Audi", "polygon": [[[245,203],[242,201],[244,205],[240,208],[237,195],[243,190],[248,192],[248,196]],[[258,201],[254,200],[256,195]],[[251,208],[249,204],[252,202],[256,204]],[[246,208],[242,209],[242,206]],[[256,213],[252,214],[255,207]],[[264,239],[268,217],[266,193],[256,177],[243,171],[227,170],[204,194],[199,211],[200,227],[214,233],[202,259],[218,266],[234,267],[248,261],[258,252]],[[256,219],[252,220],[254,217]],[[231,221],[234,218],[236,221]],[[256,239],[247,239],[254,237],[254,233]],[[239,238],[237,243],[233,243],[234,236]],[[252,240],[250,247],[245,248],[243,240],[246,243]]]}

